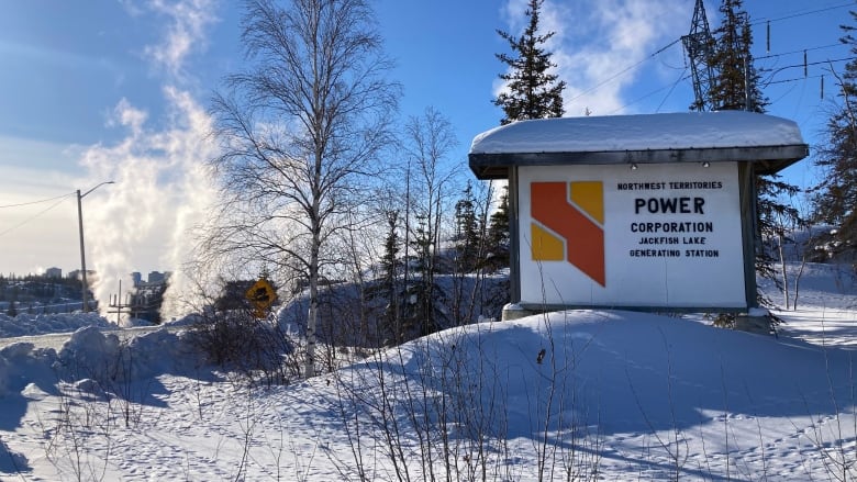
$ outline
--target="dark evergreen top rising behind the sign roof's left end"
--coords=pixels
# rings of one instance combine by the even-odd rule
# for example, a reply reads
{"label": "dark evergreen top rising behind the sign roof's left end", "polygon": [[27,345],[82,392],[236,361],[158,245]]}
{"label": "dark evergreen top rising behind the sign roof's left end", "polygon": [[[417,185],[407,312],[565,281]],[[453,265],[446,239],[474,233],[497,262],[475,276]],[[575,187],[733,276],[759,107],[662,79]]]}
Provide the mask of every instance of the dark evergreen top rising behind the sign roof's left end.
{"label": "dark evergreen top rising behind the sign roof's left end", "polygon": [[563,115],[563,90],[566,82],[558,80],[556,74],[548,70],[556,67],[550,61],[550,53],[544,44],[554,36],[554,32],[538,34],[538,13],[544,0],[530,0],[525,12],[530,22],[521,36],[498,30],[514,56],[497,54],[510,71],[500,78],[509,90],[494,99],[494,105],[503,110],[505,116],[500,121],[505,125],[525,119],[559,117]]}

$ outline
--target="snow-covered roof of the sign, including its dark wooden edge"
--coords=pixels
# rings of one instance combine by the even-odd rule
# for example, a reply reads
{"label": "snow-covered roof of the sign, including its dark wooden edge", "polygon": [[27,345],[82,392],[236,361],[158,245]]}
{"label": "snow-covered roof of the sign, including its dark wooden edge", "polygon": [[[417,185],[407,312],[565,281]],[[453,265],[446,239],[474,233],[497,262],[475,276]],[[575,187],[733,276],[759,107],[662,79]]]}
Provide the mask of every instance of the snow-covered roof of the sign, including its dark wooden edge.
{"label": "snow-covered roof of the sign, including its dark wooden edge", "polygon": [[752,161],[776,172],[809,154],[793,121],[743,111],[520,121],[479,134],[470,168],[505,178],[511,166]]}

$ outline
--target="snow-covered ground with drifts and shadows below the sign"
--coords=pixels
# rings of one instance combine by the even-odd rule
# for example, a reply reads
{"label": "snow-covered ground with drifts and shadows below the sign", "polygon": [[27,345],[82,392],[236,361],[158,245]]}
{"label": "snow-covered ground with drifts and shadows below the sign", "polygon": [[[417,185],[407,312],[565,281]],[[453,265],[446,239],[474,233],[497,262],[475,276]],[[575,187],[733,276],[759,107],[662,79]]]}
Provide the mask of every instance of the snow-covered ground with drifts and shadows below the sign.
{"label": "snow-covered ground with drifts and shadows below the sign", "polygon": [[574,311],[275,386],[181,333],[0,317],[4,336],[94,325],[58,351],[0,340],[0,479],[855,480],[856,304],[849,267],[808,265],[778,337]]}

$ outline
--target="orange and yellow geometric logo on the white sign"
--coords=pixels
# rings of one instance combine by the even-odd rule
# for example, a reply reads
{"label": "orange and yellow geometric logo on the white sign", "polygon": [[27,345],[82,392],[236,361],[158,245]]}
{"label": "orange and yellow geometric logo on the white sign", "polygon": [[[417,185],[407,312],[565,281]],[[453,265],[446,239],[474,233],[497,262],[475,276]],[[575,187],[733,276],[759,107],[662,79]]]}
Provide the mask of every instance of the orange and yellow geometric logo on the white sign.
{"label": "orange and yellow geometric logo on the white sign", "polygon": [[533,260],[568,261],[606,285],[601,181],[533,182],[530,200]]}

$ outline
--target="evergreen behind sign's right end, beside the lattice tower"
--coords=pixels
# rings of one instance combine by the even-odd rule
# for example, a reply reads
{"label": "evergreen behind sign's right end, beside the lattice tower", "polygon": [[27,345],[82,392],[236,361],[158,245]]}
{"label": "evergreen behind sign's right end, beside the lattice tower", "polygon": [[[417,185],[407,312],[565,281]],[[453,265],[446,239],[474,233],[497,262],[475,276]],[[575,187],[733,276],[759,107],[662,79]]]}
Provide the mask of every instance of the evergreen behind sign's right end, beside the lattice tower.
{"label": "evergreen behind sign's right end, beside the lattice tower", "polygon": [[[749,15],[742,0],[723,0],[720,7],[722,23],[713,32],[714,48],[710,59],[716,72],[709,92],[714,110],[744,110],[764,113],[768,105],[759,88],[759,74],[753,63],[750,47],[753,34]],[[756,183],[756,271],[779,282],[773,270],[773,257],[767,242],[776,238],[783,220],[800,223],[798,210],[783,203],[800,189],[781,180],[777,175],[757,176]]]}

